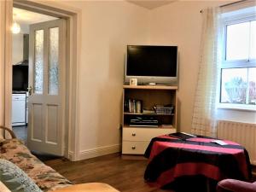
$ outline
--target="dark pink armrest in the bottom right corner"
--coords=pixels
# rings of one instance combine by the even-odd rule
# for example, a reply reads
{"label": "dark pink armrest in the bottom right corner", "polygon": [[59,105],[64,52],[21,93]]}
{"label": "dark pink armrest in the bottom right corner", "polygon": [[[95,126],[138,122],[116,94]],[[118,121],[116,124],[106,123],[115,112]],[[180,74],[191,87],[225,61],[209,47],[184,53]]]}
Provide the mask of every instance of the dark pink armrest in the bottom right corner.
{"label": "dark pink armrest in the bottom right corner", "polygon": [[224,179],[218,182],[217,192],[256,192],[255,183],[247,183],[236,179]]}

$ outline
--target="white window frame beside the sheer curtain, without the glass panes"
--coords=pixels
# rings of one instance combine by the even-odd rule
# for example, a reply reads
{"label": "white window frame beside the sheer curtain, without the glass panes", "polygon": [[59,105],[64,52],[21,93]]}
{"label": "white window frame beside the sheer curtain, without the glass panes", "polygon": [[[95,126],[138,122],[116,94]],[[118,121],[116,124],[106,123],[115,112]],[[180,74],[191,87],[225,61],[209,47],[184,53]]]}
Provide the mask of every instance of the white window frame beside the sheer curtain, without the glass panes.
{"label": "white window frame beside the sheer curtain, without the glass panes", "polygon": [[[256,20],[256,13],[249,13],[246,15],[232,15],[226,16],[223,18],[223,50],[224,54],[221,61],[220,69],[220,79],[219,79],[219,92],[218,92],[218,108],[229,108],[229,109],[239,109],[239,110],[249,110],[256,111],[256,105],[251,104],[236,104],[236,103],[224,103],[221,102],[221,86],[222,86],[222,69],[225,68],[243,68],[243,67],[256,67],[256,59],[253,60],[235,60],[235,61],[226,61],[226,38],[227,38],[227,26],[235,25],[243,22],[249,22]],[[248,88],[249,84],[247,84]],[[248,100],[249,90],[247,89],[247,100]]]}

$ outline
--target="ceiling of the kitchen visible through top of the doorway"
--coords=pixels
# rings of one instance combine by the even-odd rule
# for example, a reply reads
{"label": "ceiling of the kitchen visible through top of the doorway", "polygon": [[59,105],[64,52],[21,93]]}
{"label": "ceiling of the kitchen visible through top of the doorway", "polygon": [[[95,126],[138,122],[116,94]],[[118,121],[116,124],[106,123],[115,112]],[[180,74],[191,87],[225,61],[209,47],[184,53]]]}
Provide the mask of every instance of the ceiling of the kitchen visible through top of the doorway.
{"label": "ceiling of the kitchen visible through top of the doorway", "polygon": [[42,15],[24,9],[13,9],[13,19],[20,25],[31,25],[34,23],[44,22],[48,20],[56,20],[58,18],[49,15]]}

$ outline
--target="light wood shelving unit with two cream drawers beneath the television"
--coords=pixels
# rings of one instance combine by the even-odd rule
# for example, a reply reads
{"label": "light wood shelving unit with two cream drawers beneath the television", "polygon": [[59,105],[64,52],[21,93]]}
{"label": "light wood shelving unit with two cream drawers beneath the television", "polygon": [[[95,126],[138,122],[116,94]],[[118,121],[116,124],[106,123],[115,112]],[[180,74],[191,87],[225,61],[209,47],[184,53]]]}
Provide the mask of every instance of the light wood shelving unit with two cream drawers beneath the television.
{"label": "light wood shelving unit with two cream drawers beneath the television", "polygon": [[[142,102],[142,108],[153,110],[155,105],[174,106],[172,113],[131,113],[125,111],[128,99]],[[148,116],[158,119],[158,127],[130,125],[135,117]],[[176,132],[177,86],[166,85],[124,85],[123,86],[123,145],[122,154],[144,154],[153,137]]]}

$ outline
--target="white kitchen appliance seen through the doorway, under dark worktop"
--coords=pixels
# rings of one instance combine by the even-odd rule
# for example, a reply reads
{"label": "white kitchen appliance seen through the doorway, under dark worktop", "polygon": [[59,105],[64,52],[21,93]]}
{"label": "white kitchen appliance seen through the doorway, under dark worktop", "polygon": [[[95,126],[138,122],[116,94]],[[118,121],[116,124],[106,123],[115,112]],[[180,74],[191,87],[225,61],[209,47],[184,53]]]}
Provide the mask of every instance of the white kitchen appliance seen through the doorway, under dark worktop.
{"label": "white kitchen appliance seen through the doorway, under dark worktop", "polygon": [[26,125],[26,93],[12,96],[12,125]]}

